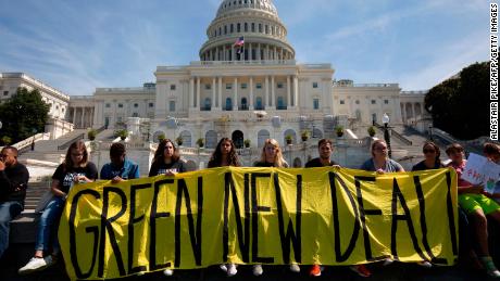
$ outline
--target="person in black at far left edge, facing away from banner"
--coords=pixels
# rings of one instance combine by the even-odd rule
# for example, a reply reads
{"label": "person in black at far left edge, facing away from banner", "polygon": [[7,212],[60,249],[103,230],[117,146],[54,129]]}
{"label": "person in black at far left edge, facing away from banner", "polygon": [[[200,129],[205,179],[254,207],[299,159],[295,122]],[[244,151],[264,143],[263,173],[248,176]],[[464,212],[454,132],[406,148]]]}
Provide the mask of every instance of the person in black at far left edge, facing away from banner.
{"label": "person in black at far left edge, facing away from banner", "polygon": [[3,148],[0,154],[0,257],[9,246],[9,225],[24,208],[29,173],[17,162],[17,149]]}

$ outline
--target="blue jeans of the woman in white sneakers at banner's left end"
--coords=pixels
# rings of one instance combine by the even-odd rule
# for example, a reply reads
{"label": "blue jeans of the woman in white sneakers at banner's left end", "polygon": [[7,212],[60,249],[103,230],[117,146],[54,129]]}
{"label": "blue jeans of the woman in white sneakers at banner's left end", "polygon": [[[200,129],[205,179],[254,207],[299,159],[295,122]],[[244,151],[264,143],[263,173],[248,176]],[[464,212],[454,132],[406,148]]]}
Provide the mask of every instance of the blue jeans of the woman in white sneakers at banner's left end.
{"label": "blue jeans of the woman in white sneakers at banner's left end", "polygon": [[41,214],[38,221],[37,240],[35,241],[35,251],[49,251],[49,243],[52,237],[52,252],[59,253],[58,225],[64,209],[63,197],[53,197]]}

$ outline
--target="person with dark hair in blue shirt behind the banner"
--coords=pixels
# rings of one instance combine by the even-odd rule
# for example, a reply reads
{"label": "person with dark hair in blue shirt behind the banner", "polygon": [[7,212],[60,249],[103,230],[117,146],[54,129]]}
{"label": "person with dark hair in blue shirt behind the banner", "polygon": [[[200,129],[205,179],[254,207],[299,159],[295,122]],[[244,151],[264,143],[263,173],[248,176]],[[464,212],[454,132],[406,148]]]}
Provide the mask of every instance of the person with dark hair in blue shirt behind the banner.
{"label": "person with dark hair in blue shirt behind the banner", "polygon": [[110,149],[111,163],[105,164],[101,169],[101,179],[111,180],[117,183],[123,180],[138,179],[139,166],[126,157],[125,145],[115,142]]}

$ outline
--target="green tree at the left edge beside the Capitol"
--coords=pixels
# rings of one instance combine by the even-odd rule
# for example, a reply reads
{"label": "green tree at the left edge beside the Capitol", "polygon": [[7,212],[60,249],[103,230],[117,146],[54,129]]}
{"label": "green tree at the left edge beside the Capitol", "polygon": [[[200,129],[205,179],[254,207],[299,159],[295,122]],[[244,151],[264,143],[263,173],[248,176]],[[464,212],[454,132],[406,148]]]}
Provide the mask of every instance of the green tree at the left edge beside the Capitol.
{"label": "green tree at the left edge beside the Capitol", "polygon": [[0,135],[16,143],[33,136],[34,131],[45,131],[49,108],[38,90],[18,88],[14,95],[0,104],[0,120],[3,123]]}

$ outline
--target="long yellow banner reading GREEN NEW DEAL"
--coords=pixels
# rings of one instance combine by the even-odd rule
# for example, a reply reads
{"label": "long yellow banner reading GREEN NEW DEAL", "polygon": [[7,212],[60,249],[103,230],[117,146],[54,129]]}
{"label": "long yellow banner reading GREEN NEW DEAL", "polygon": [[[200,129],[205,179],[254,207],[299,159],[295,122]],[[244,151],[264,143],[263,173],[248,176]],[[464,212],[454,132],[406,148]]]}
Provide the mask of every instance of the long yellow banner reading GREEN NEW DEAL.
{"label": "long yellow banner reading GREEN NEW DEAL", "polygon": [[59,228],[72,279],[223,263],[452,265],[452,169],[215,168],[71,191]]}

